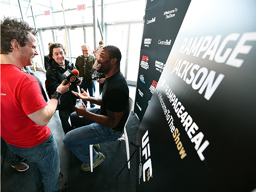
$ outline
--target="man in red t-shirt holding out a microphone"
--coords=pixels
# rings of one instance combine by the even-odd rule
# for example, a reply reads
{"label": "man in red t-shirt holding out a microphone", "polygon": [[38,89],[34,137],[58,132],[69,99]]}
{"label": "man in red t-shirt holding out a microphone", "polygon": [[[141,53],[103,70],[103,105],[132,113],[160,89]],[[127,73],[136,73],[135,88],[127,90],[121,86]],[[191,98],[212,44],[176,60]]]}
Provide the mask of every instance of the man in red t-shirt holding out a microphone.
{"label": "man in red t-shirt holding out a microphone", "polygon": [[19,156],[31,161],[38,191],[57,192],[60,160],[57,143],[47,124],[68,91],[59,85],[47,104],[36,78],[23,73],[37,53],[36,31],[23,20],[1,20],[1,137]]}

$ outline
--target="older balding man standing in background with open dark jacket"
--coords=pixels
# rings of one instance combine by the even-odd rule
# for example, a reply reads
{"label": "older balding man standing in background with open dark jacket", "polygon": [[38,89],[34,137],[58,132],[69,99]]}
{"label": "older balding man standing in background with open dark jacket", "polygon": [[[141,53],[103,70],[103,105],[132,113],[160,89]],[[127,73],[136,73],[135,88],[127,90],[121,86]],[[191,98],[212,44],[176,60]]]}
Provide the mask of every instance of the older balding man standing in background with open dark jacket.
{"label": "older balding man standing in background with open dark jacket", "polygon": [[[80,89],[83,88],[84,91],[89,91],[91,97],[95,97],[95,80],[97,77],[91,78],[93,74],[93,70],[91,69],[94,62],[96,61],[96,57],[90,54],[91,49],[87,44],[81,46],[83,55],[80,55],[76,58],[76,69],[79,71],[79,76],[83,77],[82,84],[80,85]],[[82,91],[81,91],[82,92]],[[85,106],[87,107],[87,101],[83,101]],[[94,108],[95,104],[90,102],[90,107]]]}

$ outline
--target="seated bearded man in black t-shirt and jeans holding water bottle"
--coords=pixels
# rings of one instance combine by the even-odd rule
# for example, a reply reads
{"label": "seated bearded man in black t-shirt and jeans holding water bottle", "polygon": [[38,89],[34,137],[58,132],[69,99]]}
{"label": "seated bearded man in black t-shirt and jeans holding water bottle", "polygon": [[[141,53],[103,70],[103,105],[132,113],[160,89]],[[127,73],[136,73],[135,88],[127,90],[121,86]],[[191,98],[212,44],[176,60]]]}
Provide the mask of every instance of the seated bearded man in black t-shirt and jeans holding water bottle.
{"label": "seated bearded man in black t-shirt and jeans holding water bottle", "polygon": [[[90,170],[89,145],[98,148],[98,143],[117,140],[122,136],[125,122],[128,119],[129,88],[120,72],[121,52],[115,46],[105,46],[97,59],[97,71],[106,76],[102,97],[90,97],[83,91],[82,94],[73,92],[82,100],[100,105],[100,108],[87,109],[75,107],[76,112],[70,116],[74,130],[64,137],[64,144],[84,164],[83,171]],[[79,116],[83,116],[80,118]],[[93,149],[93,168],[104,161],[102,153]]]}

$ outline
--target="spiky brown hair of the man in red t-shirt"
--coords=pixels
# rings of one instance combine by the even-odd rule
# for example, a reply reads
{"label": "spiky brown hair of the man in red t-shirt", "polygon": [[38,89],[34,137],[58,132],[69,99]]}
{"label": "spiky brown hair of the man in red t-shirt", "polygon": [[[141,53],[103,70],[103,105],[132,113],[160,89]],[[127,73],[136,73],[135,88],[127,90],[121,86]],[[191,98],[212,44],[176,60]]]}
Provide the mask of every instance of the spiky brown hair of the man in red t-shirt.
{"label": "spiky brown hair of the man in red t-shirt", "polygon": [[11,47],[11,41],[13,39],[17,40],[20,43],[20,46],[24,47],[30,38],[29,34],[36,36],[38,32],[34,27],[30,27],[27,22],[22,19],[4,17],[1,20],[1,29],[0,29],[0,52],[3,55],[8,55],[13,51]]}

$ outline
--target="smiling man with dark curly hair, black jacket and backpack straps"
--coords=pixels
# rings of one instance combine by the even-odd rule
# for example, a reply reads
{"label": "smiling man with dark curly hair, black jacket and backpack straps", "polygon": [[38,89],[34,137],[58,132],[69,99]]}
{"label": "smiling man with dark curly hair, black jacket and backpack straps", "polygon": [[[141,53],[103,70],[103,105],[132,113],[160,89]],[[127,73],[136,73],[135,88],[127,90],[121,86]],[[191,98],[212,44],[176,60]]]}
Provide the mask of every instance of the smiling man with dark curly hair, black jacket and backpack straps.
{"label": "smiling man with dark curly hair, black jacket and backpack straps", "polygon": [[[62,75],[66,70],[72,71],[76,69],[73,63],[65,59],[66,50],[60,43],[54,43],[49,49],[49,68],[46,71],[46,80],[48,82],[51,91],[56,91],[56,88],[65,80]],[[77,84],[80,85],[81,83]],[[62,94],[60,97],[60,104],[57,109],[59,110],[59,118],[62,124],[62,129],[66,135],[73,129],[73,125],[70,126],[68,122],[70,114],[75,111],[76,105],[75,95],[71,91],[78,91],[77,85],[70,84],[69,91]]]}

